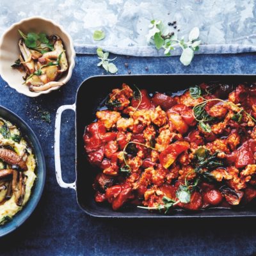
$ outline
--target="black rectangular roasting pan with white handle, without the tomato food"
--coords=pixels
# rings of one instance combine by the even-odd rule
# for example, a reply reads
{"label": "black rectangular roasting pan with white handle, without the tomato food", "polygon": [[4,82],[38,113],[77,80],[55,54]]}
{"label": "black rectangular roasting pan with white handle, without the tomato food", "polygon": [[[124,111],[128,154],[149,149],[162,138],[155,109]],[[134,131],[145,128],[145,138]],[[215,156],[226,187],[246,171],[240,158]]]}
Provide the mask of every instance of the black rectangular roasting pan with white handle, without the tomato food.
{"label": "black rectangular roasting pan with white handle, without the tomato food", "polygon": [[[54,157],[56,178],[61,188],[76,190],[77,203],[90,216],[100,218],[211,218],[211,217],[255,217],[256,205],[237,207],[234,209],[206,209],[193,211],[172,211],[170,214],[148,212],[137,207],[124,207],[120,211],[113,211],[111,205],[97,204],[94,201],[95,191],[92,189],[97,168],[88,163],[84,152],[84,127],[95,120],[95,113],[104,104],[113,88],[120,88],[122,83],[136,84],[138,88],[145,88],[148,93],[173,93],[186,90],[189,86],[202,82],[218,81],[220,83],[237,84],[255,82],[252,75],[212,75],[212,74],[173,74],[173,75],[135,75],[135,76],[95,76],[81,83],[77,90],[76,102],[58,108],[55,123]],[[60,127],[61,113],[66,109],[76,112],[76,181],[66,183],[61,177],[60,159]]]}

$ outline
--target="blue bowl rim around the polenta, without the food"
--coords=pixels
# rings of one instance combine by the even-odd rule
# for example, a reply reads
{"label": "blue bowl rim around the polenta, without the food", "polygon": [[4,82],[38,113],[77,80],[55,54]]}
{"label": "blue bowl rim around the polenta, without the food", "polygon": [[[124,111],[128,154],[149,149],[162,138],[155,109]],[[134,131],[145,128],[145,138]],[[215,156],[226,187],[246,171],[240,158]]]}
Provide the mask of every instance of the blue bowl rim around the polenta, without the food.
{"label": "blue bowl rim around the polenta, without the food", "polygon": [[24,221],[26,221],[31,213],[34,211],[36,205],[38,204],[42,192],[44,190],[45,184],[45,159],[42,147],[36,138],[35,133],[32,129],[26,124],[19,116],[10,111],[9,109],[0,106],[0,116],[4,119],[10,121],[12,124],[17,125],[22,136],[28,141],[30,147],[33,149],[33,153],[36,157],[36,180],[32,188],[31,196],[23,209],[13,216],[11,221],[8,221],[4,225],[0,225],[0,237],[5,236],[6,234],[12,232],[18,228]]}

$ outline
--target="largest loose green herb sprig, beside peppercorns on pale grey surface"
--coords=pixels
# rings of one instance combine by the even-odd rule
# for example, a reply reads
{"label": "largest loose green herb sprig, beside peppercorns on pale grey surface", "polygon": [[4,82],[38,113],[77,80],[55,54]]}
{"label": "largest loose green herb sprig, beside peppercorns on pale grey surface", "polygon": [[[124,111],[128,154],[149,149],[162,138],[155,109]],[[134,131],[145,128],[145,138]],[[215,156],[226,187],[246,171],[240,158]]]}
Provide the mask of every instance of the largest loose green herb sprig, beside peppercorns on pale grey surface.
{"label": "largest loose green herb sprig, beside peppercorns on pale grey surface", "polygon": [[171,51],[176,46],[181,47],[182,54],[180,61],[187,66],[191,63],[194,57],[194,52],[198,51],[200,40],[198,40],[200,31],[198,28],[193,28],[188,36],[188,42],[184,42],[184,38],[178,40],[177,35],[170,33],[167,26],[161,20],[151,20],[149,25],[147,41],[154,44],[157,50],[163,48],[166,56],[171,56]]}

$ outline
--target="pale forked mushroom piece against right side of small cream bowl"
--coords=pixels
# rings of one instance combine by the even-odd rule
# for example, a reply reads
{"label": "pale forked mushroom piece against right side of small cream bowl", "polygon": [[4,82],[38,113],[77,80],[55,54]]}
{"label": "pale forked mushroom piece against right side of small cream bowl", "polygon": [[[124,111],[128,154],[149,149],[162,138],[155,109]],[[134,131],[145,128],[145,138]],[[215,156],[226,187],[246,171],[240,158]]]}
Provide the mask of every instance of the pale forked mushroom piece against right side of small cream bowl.
{"label": "pale forked mushroom piece against right side of small cream bowl", "polygon": [[58,57],[60,56],[60,70],[58,71],[59,73],[63,73],[68,69],[68,61],[67,61],[67,56],[62,44],[62,41],[60,39],[60,37],[58,37],[58,39],[56,40],[55,44],[54,44],[54,51],[51,52],[45,52],[43,54],[44,58],[48,58],[48,59],[53,59],[53,60],[57,60]]}

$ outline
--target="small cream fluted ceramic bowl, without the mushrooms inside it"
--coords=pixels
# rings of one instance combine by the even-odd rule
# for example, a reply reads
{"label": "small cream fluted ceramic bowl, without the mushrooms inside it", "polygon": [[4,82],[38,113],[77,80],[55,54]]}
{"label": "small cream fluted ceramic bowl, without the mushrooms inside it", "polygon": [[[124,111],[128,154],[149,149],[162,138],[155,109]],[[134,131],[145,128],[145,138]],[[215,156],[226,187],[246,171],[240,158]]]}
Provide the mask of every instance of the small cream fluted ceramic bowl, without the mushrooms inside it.
{"label": "small cream fluted ceramic bowl, without the mushrooms inside it", "polygon": [[[49,88],[42,92],[31,92],[28,86],[22,79],[22,73],[19,70],[15,70],[11,67],[14,61],[19,58],[20,50],[18,46],[19,32],[27,34],[29,31],[42,32],[44,31],[47,35],[58,35],[60,36],[68,60],[68,70],[58,80],[60,85]],[[0,75],[8,83],[8,85],[17,92],[27,95],[29,97],[37,97],[41,94],[49,93],[52,90],[58,90],[63,84],[66,84],[72,75],[72,70],[75,66],[74,46],[72,38],[68,33],[54,21],[44,19],[42,17],[30,17],[28,19],[20,20],[20,22],[13,24],[1,37],[0,39]]]}

